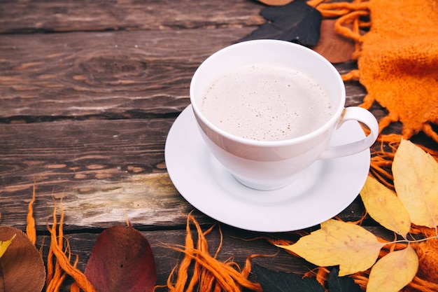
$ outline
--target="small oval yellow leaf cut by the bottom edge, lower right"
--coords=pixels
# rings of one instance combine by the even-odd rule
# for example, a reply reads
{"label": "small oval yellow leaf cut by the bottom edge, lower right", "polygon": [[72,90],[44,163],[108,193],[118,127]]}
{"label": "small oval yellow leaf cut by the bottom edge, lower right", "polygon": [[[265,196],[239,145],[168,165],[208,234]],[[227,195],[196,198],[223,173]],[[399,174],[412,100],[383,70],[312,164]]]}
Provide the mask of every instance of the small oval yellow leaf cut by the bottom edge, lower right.
{"label": "small oval yellow leaf cut by the bottom edge, lower right", "polygon": [[410,245],[390,252],[372,267],[367,292],[400,291],[414,279],[417,270],[418,256]]}

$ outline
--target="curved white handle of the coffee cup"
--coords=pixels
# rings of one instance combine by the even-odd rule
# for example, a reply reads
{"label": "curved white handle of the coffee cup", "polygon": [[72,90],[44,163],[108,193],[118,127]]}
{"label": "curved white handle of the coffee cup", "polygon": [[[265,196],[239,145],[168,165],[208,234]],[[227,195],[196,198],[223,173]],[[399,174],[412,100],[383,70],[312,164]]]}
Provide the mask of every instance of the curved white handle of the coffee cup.
{"label": "curved white handle of the coffee cup", "polygon": [[370,130],[370,133],[364,139],[339,146],[328,146],[320,155],[320,159],[339,158],[343,156],[353,155],[366,150],[379,136],[379,123],[372,113],[359,106],[349,106],[344,109],[341,119],[338,122],[337,128],[341,127],[347,120],[357,120],[364,123]]}

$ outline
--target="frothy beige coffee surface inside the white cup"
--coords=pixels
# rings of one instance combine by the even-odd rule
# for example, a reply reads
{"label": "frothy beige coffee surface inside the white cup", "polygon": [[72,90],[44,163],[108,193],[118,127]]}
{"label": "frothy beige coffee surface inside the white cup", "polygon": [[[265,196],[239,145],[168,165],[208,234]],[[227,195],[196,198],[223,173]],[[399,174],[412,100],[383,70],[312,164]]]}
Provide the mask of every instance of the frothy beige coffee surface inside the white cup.
{"label": "frothy beige coffee surface inside the white cup", "polygon": [[257,141],[308,134],[333,114],[320,85],[299,71],[272,64],[223,74],[206,91],[201,111],[220,129]]}

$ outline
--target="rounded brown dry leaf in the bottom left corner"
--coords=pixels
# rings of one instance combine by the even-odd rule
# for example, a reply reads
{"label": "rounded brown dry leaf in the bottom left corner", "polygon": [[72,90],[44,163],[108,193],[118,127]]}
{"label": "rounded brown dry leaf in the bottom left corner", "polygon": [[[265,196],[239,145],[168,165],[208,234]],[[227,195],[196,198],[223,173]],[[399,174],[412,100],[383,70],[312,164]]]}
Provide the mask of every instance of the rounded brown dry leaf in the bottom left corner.
{"label": "rounded brown dry leaf in the bottom left corner", "polygon": [[45,266],[41,254],[21,230],[0,226],[0,240],[15,236],[0,258],[0,291],[39,292],[45,283]]}

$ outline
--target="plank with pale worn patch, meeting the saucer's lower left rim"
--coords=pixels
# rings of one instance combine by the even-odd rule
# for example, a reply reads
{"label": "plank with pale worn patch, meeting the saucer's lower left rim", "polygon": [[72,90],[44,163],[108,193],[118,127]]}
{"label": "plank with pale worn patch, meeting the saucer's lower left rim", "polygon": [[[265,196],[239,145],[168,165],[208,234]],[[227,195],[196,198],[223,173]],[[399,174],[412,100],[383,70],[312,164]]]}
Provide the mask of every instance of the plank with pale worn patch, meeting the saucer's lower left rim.
{"label": "plank with pale worn patch, meeting the saucer's lower left rim", "polygon": [[[68,185],[71,186],[64,187]],[[31,192],[32,186],[15,193],[1,193],[1,224],[24,230]],[[142,230],[182,228],[187,214],[194,210],[179,195],[166,174],[76,184],[50,181],[48,186],[36,188],[34,217],[37,230],[45,230],[45,222],[52,216],[55,203],[59,206],[61,198],[66,217],[65,230],[108,228],[126,220]],[[363,211],[362,201],[358,197],[338,217],[344,221],[358,221]],[[214,222],[206,216],[197,216],[197,219],[200,223]],[[364,224],[367,223],[366,220]]]}

